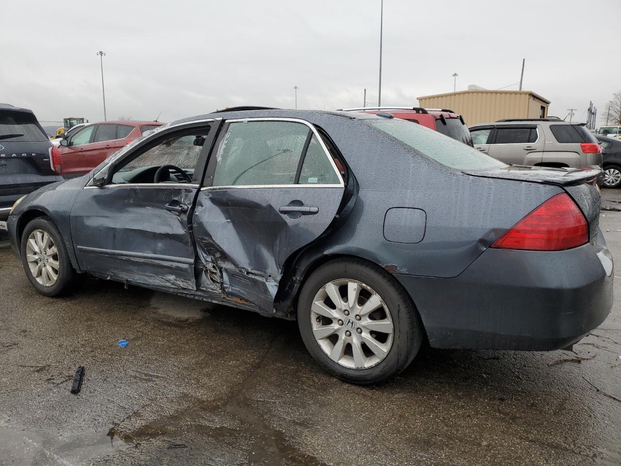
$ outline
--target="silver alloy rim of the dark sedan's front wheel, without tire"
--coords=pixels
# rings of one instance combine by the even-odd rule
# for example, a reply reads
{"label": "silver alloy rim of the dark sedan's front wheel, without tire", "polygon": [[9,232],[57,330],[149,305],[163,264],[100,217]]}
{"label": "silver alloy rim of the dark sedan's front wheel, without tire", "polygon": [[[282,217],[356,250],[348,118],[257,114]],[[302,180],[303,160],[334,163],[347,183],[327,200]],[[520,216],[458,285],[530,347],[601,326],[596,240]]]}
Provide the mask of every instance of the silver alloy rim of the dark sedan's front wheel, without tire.
{"label": "silver alloy rim of the dark sedan's front wheel, without tire", "polygon": [[26,243],[26,260],[37,283],[43,286],[55,285],[60,263],[58,249],[48,232],[37,229],[30,233]]}

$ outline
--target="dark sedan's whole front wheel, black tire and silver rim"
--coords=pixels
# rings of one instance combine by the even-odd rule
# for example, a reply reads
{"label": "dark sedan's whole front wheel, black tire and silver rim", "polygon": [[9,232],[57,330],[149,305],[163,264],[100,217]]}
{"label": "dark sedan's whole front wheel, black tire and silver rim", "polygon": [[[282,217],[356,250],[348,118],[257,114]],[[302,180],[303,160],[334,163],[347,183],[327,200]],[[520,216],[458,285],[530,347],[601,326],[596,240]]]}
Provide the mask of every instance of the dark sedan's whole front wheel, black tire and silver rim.
{"label": "dark sedan's whole front wheel, black tire and silver rim", "polygon": [[60,232],[52,221],[39,217],[26,225],[20,255],[24,272],[39,293],[60,296],[70,290],[75,271]]}

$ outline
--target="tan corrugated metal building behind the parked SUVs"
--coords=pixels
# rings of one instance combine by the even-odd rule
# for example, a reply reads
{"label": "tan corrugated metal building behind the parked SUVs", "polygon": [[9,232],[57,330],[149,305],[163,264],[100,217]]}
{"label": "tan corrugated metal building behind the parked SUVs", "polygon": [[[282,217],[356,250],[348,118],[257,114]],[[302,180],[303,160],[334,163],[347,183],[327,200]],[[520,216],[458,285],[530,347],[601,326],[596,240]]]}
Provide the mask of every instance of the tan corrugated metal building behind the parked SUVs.
{"label": "tan corrugated metal building behind the parked SUVs", "polygon": [[502,118],[545,118],[550,105],[548,99],[532,91],[468,90],[418,99],[421,107],[457,112],[468,126]]}

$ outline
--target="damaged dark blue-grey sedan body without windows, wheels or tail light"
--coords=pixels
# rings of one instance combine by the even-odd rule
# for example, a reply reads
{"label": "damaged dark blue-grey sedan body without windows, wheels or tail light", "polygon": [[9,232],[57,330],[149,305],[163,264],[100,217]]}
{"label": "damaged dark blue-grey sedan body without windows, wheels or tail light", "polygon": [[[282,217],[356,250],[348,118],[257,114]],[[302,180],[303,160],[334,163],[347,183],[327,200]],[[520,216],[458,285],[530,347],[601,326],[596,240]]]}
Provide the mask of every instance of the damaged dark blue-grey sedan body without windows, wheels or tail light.
{"label": "damaged dark blue-grey sedan body without windows, wheels or tail light", "polygon": [[[320,135],[343,165],[339,182],[212,186],[227,125],[261,119],[299,122]],[[401,283],[437,348],[560,349],[604,321],[613,264],[598,226],[596,171],[455,170],[369,126],[377,120],[261,109],[168,124],[147,139],[209,126],[193,183],[96,186],[117,160],[146,144],[140,138],[88,175],[27,196],[9,218],[11,244],[19,255],[25,224],[45,215],[78,272],[289,319],[313,270],[332,258],[361,258]],[[586,244],[562,251],[491,247],[563,193],[587,219]],[[171,212],[167,204],[188,210]],[[318,214],[297,215],[307,206]]]}

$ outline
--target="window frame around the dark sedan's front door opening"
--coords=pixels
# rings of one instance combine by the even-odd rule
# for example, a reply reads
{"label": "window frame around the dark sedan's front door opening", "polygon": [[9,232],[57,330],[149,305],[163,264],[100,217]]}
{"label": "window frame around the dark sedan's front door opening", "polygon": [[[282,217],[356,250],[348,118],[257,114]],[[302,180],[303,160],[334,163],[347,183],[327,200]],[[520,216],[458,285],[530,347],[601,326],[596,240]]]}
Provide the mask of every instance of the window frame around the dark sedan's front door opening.
{"label": "window frame around the dark sedan's front door opening", "polygon": [[111,185],[110,184],[110,178],[112,176],[112,172],[114,171],[114,167],[116,167],[116,165],[119,165],[119,163],[124,162],[124,160],[126,160],[129,157],[134,157],[134,156],[139,157],[140,154],[135,155],[136,152],[142,150],[145,145],[150,144],[151,142],[153,142],[153,140],[166,139],[166,137],[169,134],[174,133],[179,130],[184,130],[187,127],[192,127],[192,126],[197,126],[197,127],[211,126],[211,129],[209,130],[209,135],[207,135],[207,139],[205,141],[205,144],[202,147],[201,154],[199,155],[199,158],[196,162],[196,167],[194,168],[194,174],[195,174],[194,176],[196,176],[197,173],[201,173],[201,178],[202,178],[202,176],[204,176],[205,159],[208,157],[209,152],[211,151],[214,139],[215,139],[215,136],[212,136],[212,133],[215,135],[217,130],[219,130],[220,127],[222,126],[222,119],[220,118],[207,118],[207,119],[202,119],[202,120],[185,121],[183,123],[168,126],[166,130],[157,132],[156,134],[152,134],[152,135],[149,135],[148,137],[144,137],[142,140],[138,141],[138,143],[134,147],[131,147],[129,150],[127,150],[127,152],[121,152],[123,150],[121,149],[119,151],[121,153],[119,154],[118,157],[116,158],[111,157],[107,159],[106,165],[101,167],[101,169],[93,175],[93,178],[91,178],[91,180],[88,183],[86,183],[86,186],[84,186],[83,189],[85,190],[86,189],[97,189],[97,190],[101,189],[99,188],[99,186],[93,185],[93,181],[96,178],[98,178],[99,175],[102,175],[104,171],[107,172],[106,173],[106,176],[107,176],[106,187],[107,188],[112,187],[112,186],[116,186],[116,187],[145,186],[145,187],[151,187],[151,188],[170,188],[171,186],[181,186],[181,187],[191,186],[191,187],[197,188],[201,186],[201,183],[199,181],[197,181],[196,183],[175,183],[174,185],[166,185],[166,184],[154,185],[153,183],[124,183],[123,185]]}

